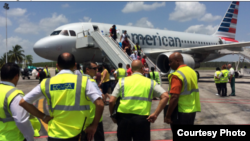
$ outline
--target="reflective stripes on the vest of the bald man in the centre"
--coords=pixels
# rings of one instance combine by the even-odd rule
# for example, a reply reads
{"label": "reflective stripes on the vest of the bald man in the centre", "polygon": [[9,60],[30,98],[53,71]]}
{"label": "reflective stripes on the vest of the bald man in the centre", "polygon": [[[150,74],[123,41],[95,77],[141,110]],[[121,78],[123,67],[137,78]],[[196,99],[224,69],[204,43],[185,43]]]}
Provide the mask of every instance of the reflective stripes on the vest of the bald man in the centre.
{"label": "reflective stripes on the vest of the bald man in the centre", "polygon": [[121,81],[121,90],[122,90],[122,99],[123,100],[128,100],[128,99],[133,99],[133,100],[143,100],[143,101],[149,101],[149,102],[152,102],[152,99],[151,99],[151,94],[152,94],[152,91],[153,91],[153,87],[154,87],[154,81],[151,80],[151,86],[150,86],[150,92],[148,94],[148,98],[144,98],[144,97],[125,97],[124,96],[124,78],[122,78],[122,81]]}

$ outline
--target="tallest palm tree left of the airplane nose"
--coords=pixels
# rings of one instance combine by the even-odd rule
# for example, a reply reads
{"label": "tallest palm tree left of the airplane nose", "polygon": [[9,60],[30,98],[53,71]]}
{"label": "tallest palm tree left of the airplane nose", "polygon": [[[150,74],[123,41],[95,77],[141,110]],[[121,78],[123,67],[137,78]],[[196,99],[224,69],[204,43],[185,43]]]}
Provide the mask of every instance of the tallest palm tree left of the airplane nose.
{"label": "tallest palm tree left of the airplane nose", "polygon": [[20,45],[12,46],[12,50],[10,50],[8,53],[10,57],[9,62],[21,63],[23,61],[23,58],[25,57],[23,53],[24,53],[24,50],[22,49]]}

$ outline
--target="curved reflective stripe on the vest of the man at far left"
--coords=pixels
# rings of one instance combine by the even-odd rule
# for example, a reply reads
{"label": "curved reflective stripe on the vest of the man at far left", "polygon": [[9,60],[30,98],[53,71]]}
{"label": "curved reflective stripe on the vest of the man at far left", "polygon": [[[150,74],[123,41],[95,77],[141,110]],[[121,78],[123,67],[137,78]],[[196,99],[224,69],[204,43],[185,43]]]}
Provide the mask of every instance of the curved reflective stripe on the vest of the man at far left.
{"label": "curved reflective stripe on the vest of the man at far left", "polygon": [[3,123],[9,122],[9,121],[14,121],[14,118],[11,116],[11,114],[8,111],[8,98],[9,98],[10,94],[13,93],[15,90],[17,90],[17,88],[12,88],[11,90],[9,90],[4,98],[3,109],[4,109],[4,114],[5,114],[6,118],[2,119],[0,117],[0,121],[2,121]]}

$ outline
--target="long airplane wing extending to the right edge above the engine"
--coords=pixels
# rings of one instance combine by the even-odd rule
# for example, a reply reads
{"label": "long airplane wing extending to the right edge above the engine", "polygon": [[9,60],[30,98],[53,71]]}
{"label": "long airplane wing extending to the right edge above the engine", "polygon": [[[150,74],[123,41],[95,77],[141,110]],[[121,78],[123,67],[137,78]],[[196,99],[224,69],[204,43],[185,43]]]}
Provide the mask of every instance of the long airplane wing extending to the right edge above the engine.
{"label": "long airplane wing extending to the right edge above the engine", "polygon": [[163,53],[163,52],[183,52],[183,53],[208,53],[218,51],[220,49],[233,50],[236,48],[250,46],[250,42],[241,42],[241,43],[231,43],[231,44],[219,44],[219,45],[210,45],[210,46],[199,46],[199,47],[189,47],[189,48],[179,48],[171,50],[149,50],[145,51],[150,54],[154,53]]}

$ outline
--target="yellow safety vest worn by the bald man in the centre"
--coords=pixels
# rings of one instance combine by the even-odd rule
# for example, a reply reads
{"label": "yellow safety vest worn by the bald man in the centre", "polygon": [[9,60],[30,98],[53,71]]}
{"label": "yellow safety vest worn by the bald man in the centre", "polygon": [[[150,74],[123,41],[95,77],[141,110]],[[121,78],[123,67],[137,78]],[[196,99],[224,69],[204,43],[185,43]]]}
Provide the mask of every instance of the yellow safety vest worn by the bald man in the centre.
{"label": "yellow safety vest worn by the bald man in the centre", "polygon": [[121,100],[117,112],[148,116],[156,82],[141,74],[133,74],[119,79],[118,83]]}

